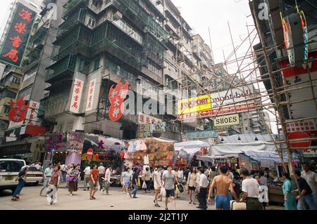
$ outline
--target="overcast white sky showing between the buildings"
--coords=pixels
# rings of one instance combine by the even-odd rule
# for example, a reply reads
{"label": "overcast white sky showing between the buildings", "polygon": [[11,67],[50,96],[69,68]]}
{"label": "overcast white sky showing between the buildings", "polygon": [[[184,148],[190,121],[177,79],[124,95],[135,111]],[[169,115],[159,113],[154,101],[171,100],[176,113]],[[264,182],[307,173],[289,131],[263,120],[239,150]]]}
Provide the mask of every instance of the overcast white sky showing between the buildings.
{"label": "overcast white sky showing between the buildings", "polygon": [[[13,0],[1,0],[0,7],[0,34],[5,25],[5,18],[8,16],[8,8]],[[172,0],[180,9],[183,18],[194,30],[210,45],[209,27],[211,29],[211,42],[213,47],[213,55],[215,62],[223,62],[223,51],[225,58],[232,52],[232,41],[228,29],[230,23],[232,38],[235,46],[247,37],[247,26],[254,25],[249,9],[249,0]],[[254,27],[249,27],[254,29]],[[256,40],[254,44],[259,41]],[[249,43],[249,42],[247,42]],[[249,44],[244,44],[241,50],[237,52],[238,57],[244,55]],[[230,58],[233,60],[234,58]],[[247,62],[249,63],[249,62]],[[235,64],[228,65],[230,72],[235,72],[237,66]],[[263,88],[263,86],[261,86]],[[272,116],[270,114],[270,116]],[[273,119],[273,117],[271,117]],[[272,123],[273,132],[277,132],[276,126]]]}

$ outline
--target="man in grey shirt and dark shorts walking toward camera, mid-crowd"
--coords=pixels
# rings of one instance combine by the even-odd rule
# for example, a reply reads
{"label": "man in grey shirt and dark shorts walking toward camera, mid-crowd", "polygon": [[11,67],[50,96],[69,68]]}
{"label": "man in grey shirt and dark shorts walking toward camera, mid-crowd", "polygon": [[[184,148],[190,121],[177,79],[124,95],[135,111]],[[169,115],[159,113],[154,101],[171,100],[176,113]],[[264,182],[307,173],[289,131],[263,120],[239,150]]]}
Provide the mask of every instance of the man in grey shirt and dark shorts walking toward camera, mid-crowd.
{"label": "man in grey shirt and dark shorts walking toward camera, mid-crowd", "polygon": [[176,209],[174,183],[178,183],[178,177],[172,173],[172,166],[168,166],[168,172],[163,174],[164,187],[166,190],[165,210],[168,210],[168,198],[173,201],[174,210]]}

